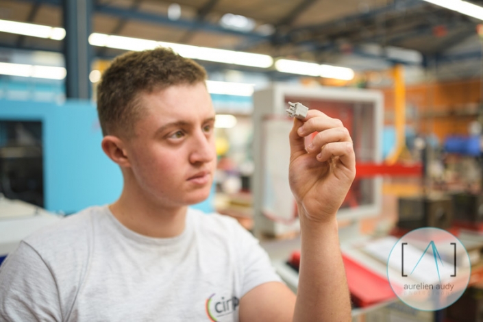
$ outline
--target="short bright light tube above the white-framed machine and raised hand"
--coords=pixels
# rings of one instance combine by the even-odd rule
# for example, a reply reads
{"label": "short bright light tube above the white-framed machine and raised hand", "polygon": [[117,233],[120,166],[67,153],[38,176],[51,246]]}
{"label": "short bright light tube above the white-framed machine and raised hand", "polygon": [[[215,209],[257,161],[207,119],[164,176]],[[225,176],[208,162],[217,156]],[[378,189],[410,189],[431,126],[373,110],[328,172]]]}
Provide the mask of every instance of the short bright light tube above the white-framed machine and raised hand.
{"label": "short bright light tube above the white-framed machine and raised hand", "polygon": [[301,62],[299,60],[280,59],[275,62],[275,69],[283,73],[298,75],[320,76],[342,80],[354,78],[354,71],[346,67],[317,64],[314,62]]}

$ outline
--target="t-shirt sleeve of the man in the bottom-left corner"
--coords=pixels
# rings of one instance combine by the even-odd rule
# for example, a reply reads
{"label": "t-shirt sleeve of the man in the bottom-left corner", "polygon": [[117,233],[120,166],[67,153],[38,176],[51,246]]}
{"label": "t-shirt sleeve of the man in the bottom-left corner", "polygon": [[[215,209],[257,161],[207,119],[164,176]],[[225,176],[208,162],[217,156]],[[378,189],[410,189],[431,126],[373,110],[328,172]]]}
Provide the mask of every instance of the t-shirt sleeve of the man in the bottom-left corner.
{"label": "t-shirt sleeve of the man in the bottom-left corner", "polygon": [[55,279],[35,249],[21,242],[0,267],[0,321],[62,321]]}

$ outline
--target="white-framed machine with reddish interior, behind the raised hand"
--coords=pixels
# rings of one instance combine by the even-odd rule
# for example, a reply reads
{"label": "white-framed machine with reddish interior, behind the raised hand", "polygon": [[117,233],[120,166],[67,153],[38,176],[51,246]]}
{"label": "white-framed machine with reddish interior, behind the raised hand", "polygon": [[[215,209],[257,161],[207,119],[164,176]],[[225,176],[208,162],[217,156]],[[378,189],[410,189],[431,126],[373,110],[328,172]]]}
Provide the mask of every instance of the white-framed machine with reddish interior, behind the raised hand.
{"label": "white-framed machine with reddish interior, behind the raised hand", "polygon": [[[257,236],[281,236],[299,231],[295,200],[288,185],[288,133],[293,119],[286,115],[286,110],[290,107],[296,116],[297,106],[306,106],[340,119],[354,140],[356,162],[377,164],[382,162],[383,102],[382,92],[358,88],[274,84],[253,93],[255,173],[252,191]],[[358,221],[364,216],[377,215],[381,195],[380,178],[356,177],[338,211],[338,218]]]}

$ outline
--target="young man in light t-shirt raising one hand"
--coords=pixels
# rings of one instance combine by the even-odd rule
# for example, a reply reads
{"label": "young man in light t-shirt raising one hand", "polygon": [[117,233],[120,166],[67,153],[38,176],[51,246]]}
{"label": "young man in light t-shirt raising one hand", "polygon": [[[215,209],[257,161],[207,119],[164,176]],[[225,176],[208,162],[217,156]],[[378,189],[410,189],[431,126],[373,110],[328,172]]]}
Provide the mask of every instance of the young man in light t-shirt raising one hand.
{"label": "young man in light t-shirt raising one hand", "polygon": [[296,297],[236,221],[188,208],[208,197],[216,166],[205,80],[168,49],[114,60],[98,111],[121,197],[23,240],[0,269],[1,321],[351,320],[336,222],[355,175],[347,129],[310,110],[290,132],[302,233]]}

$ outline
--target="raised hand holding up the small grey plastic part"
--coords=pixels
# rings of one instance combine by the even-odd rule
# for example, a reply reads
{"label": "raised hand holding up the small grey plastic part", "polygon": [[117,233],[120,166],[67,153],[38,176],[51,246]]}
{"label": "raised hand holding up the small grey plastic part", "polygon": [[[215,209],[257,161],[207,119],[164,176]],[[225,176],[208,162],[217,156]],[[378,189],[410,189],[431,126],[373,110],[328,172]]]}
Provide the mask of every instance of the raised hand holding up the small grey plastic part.
{"label": "raised hand holding up the small grey plastic part", "polygon": [[[319,133],[306,147],[305,137],[314,132]],[[309,110],[303,121],[294,119],[289,181],[302,221],[334,219],[355,176],[354,146],[340,120],[319,110]]]}

